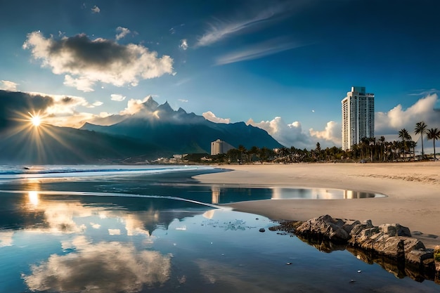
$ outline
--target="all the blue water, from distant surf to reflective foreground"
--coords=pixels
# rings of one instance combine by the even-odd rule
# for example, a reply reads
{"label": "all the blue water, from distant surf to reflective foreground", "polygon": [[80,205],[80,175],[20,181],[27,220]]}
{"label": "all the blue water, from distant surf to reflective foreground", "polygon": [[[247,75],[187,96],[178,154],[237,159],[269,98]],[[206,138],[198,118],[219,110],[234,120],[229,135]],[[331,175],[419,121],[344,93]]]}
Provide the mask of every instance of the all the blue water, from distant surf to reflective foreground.
{"label": "all the blue water, from distant surf to reflective foreground", "polygon": [[193,178],[220,171],[227,170],[1,166],[0,292],[440,292],[432,280],[415,281],[341,247],[309,245],[269,230],[278,224],[264,216],[227,207],[331,200],[341,196],[336,190]]}

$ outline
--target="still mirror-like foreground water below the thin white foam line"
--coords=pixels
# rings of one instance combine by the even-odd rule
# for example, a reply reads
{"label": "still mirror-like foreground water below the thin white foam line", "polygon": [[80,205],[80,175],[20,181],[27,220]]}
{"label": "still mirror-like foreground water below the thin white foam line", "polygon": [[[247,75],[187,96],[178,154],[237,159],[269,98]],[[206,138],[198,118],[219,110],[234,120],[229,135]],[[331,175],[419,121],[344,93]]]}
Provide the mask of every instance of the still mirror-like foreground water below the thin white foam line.
{"label": "still mirror-like foreground water below the thin white foam line", "polygon": [[[398,283],[348,252],[327,256],[296,237],[271,233],[274,224],[262,216],[123,194],[37,194],[37,206],[28,209],[27,191],[0,193],[8,203],[0,206],[0,219],[19,222],[0,230],[0,292],[429,289]],[[364,282],[349,283],[353,268],[369,271]]]}

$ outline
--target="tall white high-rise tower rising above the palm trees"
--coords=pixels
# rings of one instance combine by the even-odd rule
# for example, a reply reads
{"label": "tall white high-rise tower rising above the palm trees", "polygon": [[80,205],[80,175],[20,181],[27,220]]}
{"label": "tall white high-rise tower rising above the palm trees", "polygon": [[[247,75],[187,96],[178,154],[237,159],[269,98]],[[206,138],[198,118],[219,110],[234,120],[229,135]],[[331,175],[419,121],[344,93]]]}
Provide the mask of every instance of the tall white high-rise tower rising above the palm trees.
{"label": "tall white high-rise tower rising above the palm trees", "polygon": [[365,93],[365,86],[351,86],[341,103],[342,150],[348,150],[375,136],[375,94]]}

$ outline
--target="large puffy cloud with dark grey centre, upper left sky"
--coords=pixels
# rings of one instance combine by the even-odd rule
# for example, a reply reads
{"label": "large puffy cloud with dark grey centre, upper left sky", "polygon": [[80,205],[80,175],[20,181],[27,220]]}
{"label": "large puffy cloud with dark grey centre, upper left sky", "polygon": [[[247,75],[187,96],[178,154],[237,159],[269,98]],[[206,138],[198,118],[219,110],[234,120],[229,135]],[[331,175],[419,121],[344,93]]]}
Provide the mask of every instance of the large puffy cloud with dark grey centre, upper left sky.
{"label": "large puffy cloud with dark grey centre, upper left sky", "polygon": [[42,67],[65,74],[65,85],[80,91],[93,91],[96,82],[114,86],[137,86],[141,79],[173,73],[173,59],[157,57],[142,45],[120,45],[109,39],[75,37],[45,38],[40,32],[27,35],[23,48],[30,49]]}

